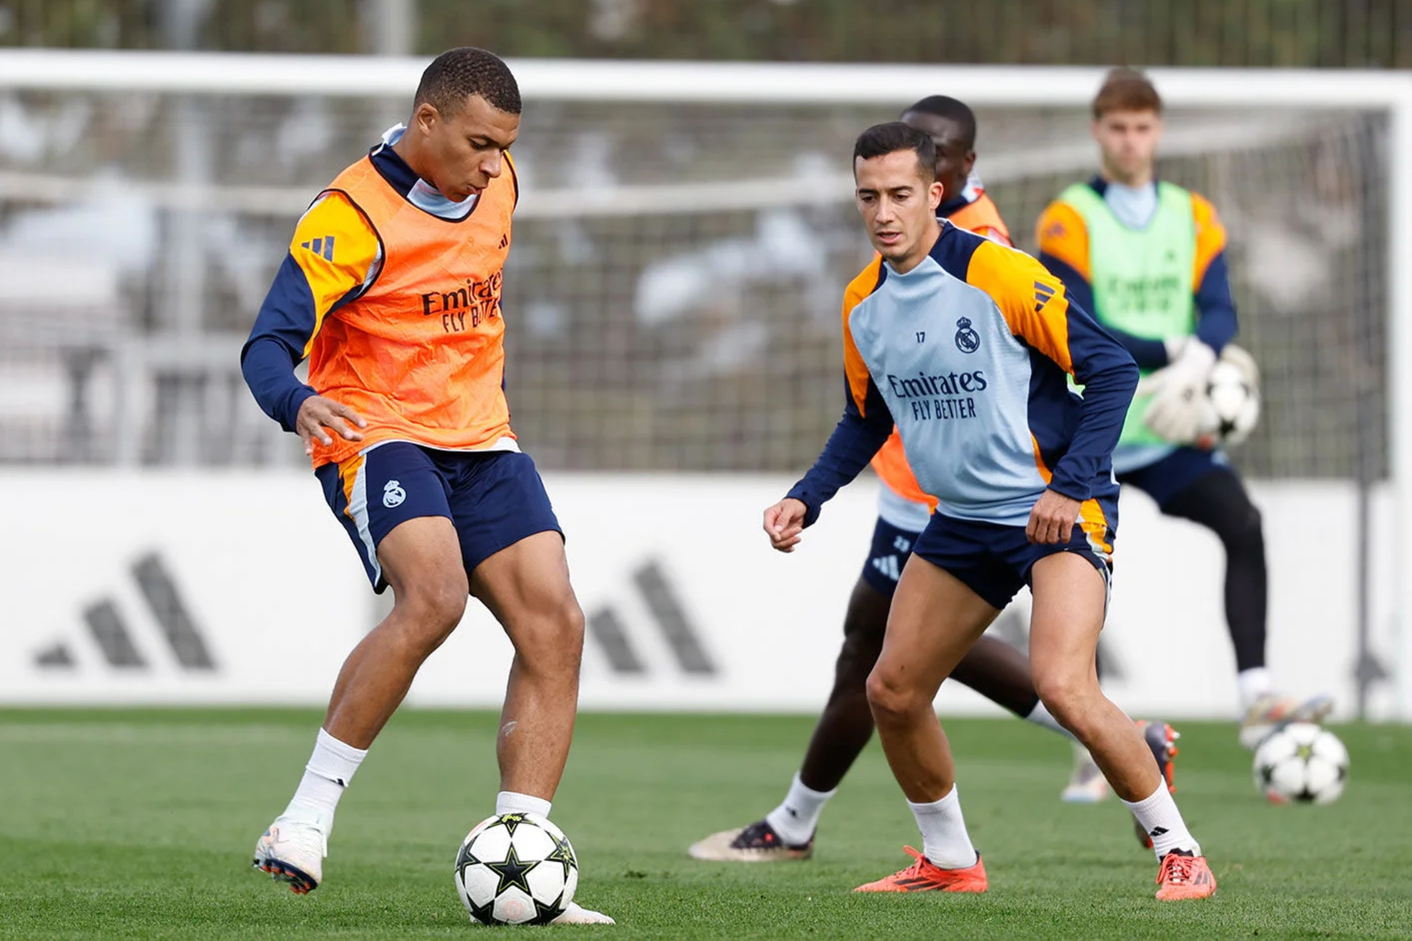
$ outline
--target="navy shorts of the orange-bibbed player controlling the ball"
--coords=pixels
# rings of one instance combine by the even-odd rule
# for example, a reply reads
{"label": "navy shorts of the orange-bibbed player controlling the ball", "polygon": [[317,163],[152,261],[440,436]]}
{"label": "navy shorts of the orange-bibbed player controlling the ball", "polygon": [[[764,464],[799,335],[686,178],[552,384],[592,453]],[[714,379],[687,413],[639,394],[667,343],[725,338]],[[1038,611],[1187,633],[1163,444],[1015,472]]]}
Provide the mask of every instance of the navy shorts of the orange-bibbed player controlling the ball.
{"label": "navy shorts of the orange-bibbed player controlling the ball", "polygon": [[342,464],[325,464],[315,475],[378,594],[387,580],[377,546],[408,519],[448,518],[460,539],[467,578],[527,536],[563,535],[534,461],[520,451],[439,451],[387,442]]}

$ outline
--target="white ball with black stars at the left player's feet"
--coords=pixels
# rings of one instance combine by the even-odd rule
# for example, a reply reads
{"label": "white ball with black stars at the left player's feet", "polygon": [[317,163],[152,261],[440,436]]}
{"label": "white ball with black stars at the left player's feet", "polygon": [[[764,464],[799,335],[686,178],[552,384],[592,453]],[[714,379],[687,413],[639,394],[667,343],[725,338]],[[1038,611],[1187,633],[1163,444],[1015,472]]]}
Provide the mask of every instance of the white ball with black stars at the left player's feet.
{"label": "white ball with black stars at the left player's feet", "polygon": [[456,854],[456,894],[481,924],[548,924],[578,886],[569,838],[539,814],[487,817]]}

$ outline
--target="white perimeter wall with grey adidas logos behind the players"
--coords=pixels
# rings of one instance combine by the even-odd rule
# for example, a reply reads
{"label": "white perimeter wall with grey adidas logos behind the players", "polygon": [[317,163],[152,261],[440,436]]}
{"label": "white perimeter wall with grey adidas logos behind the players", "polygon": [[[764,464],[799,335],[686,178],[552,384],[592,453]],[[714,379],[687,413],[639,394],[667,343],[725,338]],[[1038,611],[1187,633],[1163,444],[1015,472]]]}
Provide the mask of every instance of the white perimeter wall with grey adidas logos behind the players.
{"label": "white perimeter wall with grey adidas logos behind the players", "polygon": [[[573,583],[590,615],[611,609],[638,673],[616,672],[593,638],[585,708],[816,711],[832,681],[843,609],[867,552],[875,482],[825,511],[791,556],[772,552],[760,512],[785,477],[549,474],[569,535]],[[1255,484],[1271,573],[1269,662],[1295,694],[1354,704],[1354,490]],[[367,587],[342,528],[304,474],[0,474],[0,703],[322,704],[347,650],[385,600]],[[1374,505],[1372,643],[1389,669],[1392,506]],[[216,669],[182,667],[131,567],[155,553]],[[686,672],[634,573],[655,566],[710,673]],[[1220,545],[1125,494],[1104,653],[1110,696],[1134,714],[1236,712],[1234,659],[1221,617]],[[85,621],[107,601],[143,666],[114,667]],[[1018,636],[1028,595],[1001,621]],[[69,666],[41,666],[62,646]],[[510,645],[474,601],[424,667],[409,701],[497,705]],[[955,688],[953,688],[955,687]],[[943,687],[946,712],[998,714]],[[1396,717],[1394,683],[1371,698]],[[1401,718],[1412,718],[1404,715]]]}

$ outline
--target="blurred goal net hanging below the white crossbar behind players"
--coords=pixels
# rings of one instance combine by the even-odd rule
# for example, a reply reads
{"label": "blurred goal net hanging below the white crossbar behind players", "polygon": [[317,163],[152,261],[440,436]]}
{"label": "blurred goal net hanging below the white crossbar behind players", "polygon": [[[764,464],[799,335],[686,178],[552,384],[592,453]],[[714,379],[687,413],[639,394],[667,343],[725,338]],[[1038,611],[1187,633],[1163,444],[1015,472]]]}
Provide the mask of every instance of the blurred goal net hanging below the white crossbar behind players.
{"label": "blurred goal net hanging below the white crossbar behind players", "polygon": [[[299,212],[402,117],[415,72],[349,95],[313,66],[280,85],[210,56],[193,90],[179,69],[164,83],[169,61],[144,56],[136,89],[131,59],[88,86],[16,69],[0,82],[0,461],[301,460],[258,415],[236,351]],[[638,97],[655,100],[594,100],[592,72],[556,90],[530,68],[507,382],[542,464],[812,459],[842,402],[839,298],[868,257],[853,138],[925,95],[984,87],[916,73],[867,102],[816,86],[791,100],[705,66],[707,95],[669,100],[647,73]],[[977,174],[1027,250],[1048,200],[1094,166],[1086,95],[1056,103],[1045,83],[1035,73],[1032,100],[970,96]],[[1161,175],[1209,196],[1230,230],[1240,341],[1267,401],[1240,463],[1385,477],[1389,111],[1250,97],[1178,103],[1161,151]]]}

